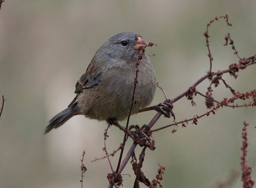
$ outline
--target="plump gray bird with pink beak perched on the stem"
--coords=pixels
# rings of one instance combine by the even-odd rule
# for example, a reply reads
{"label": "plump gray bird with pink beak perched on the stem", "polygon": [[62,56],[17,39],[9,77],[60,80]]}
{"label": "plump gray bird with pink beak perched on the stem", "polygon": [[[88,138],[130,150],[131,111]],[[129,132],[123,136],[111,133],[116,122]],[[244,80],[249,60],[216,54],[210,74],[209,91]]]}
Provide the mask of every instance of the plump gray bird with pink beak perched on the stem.
{"label": "plump gray bird with pink beak perched on the stem", "polygon": [[[111,37],[95,53],[85,74],[77,81],[74,100],[68,108],[55,115],[45,128],[48,133],[60,127],[74,115],[83,114],[99,121],[127,118],[132,101],[134,64],[146,41],[137,33],[119,33]],[[138,73],[132,114],[148,106],[155,95],[156,75],[146,54],[143,55]]]}

